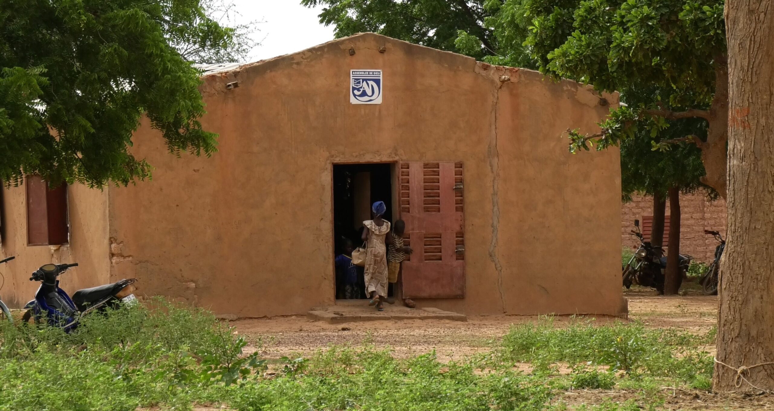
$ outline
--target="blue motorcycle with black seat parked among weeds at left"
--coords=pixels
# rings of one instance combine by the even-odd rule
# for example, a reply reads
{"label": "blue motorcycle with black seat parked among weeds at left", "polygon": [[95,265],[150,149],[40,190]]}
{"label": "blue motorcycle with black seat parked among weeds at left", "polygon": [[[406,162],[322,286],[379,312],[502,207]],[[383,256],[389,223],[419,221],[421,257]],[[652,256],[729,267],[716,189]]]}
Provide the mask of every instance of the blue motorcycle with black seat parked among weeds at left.
{"label": "blue motorcycle with black seat parked among weeds at left", "polygon": [[29,301],[24,309],[22,322],[35,324],[47,324],[63,328],[65,332],[73,331],[78,326],[78,321],[85,314],[107,307],[117,308],[119,303],[133,303],[136,301],[132,294],[135,283],[134,278],[121,280],[113,284],[105,284],[99,287],[77,290],[70,298],[59,287],[59,276],[70,269],[77,267],[74,264],[46,264],[33,272],[30,281],[40,281],[40,287],[35,293],[35,299]]}

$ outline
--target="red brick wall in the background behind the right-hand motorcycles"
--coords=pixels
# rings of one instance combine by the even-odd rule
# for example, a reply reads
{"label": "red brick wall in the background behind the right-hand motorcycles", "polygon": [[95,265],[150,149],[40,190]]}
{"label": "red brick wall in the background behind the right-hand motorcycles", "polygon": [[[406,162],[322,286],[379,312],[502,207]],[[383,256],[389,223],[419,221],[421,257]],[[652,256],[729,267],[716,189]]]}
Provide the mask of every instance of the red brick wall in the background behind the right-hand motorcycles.
{"label": "red brick wall in the background behind the right-hand motorcycles", "polygon": [[[699,261],[710,262],[714,257],[717,241],[705,229],[721,232],[725,238],[726,205],[724,199],[707,201],[702,192],[680,195],[680,253],[688,253]],[[646,195],[632,195],[631,202],[621,208],[621,241],[624,246],[636,246],[639,241],[629,236],[634,220],[653,215],[653,199]],[[670,203],[666,202],[666,215],[670,215]]]}

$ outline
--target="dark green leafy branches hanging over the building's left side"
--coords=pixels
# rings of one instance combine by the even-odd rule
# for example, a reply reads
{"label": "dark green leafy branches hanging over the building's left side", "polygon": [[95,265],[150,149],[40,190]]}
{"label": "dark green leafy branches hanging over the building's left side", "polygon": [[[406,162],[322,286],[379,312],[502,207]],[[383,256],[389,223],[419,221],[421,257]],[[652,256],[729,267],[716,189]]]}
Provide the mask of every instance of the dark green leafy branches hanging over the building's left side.
{"label": "dark green leafy branches hanging over the building's left side", "polygon": [[5,184],[148,178],[151,166],[128,152],[143,114],[173,154],[216,151],[198,121],[200,72],[176,47],[228,56],[234,30],[200,0],[0,0],[0,31]]}

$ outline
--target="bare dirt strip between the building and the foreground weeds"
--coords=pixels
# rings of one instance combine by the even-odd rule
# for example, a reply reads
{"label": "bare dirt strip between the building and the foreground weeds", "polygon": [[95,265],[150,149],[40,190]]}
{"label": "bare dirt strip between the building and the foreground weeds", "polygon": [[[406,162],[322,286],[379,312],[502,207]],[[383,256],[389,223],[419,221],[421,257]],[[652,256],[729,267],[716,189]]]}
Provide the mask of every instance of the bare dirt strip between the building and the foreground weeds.
{"label": "bare dirt strip between the building and the foreground weeds", "polygon": [[[684,297],[659,297],[652,290],[631,290],[629,320],[659,328],[683,328],[697,334],[710,330],[716,324],[717,297],[689,294]],[[389,310],[386,306],[385,310]],[[372,307],[363,303],[363,311]],[[593,318],[593,317],[592,317]],[[304,316],[261,318],[233,321],[238,332],[252,339],[260,338],[260,349],[267,358],[290,355],[312,355],[328,345],[374,344],[389,347],[394,355],[405,358],[436,350],[441,361],[485,352],[498,338],[508,332],[511,324],[535,321],[536,316],[474,316],[467,322],[400,320],[370,321],[346,324],[327,324],[310,321]],[[559,317],[558,322],[570,317]],[[615,318],[596,318],[596,321],[617,321]]]}

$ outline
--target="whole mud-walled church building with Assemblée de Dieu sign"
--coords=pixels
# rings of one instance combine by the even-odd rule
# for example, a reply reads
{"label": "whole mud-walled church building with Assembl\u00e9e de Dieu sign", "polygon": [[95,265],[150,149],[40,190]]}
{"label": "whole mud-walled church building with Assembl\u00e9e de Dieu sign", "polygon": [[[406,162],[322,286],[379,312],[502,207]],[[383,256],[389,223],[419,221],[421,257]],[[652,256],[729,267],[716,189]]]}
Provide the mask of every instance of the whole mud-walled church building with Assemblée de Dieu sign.
{"label": "whole mud-walled church building with Assembl\u00e9e de Dieu sign", "polygon": [[152,181],[2,190],[6,302],[33,297],[40,265],[77,262],[70,292],[136,277],[217,314],[301,314],[336,304],[339,240],[382,200],[406,220],[399,292],[420,307],[625,312],[618,151],[563,138],[597,131],[617,95],[372,33],[207,67],[200,90],[211,158],[175,158],[143,122]]}

